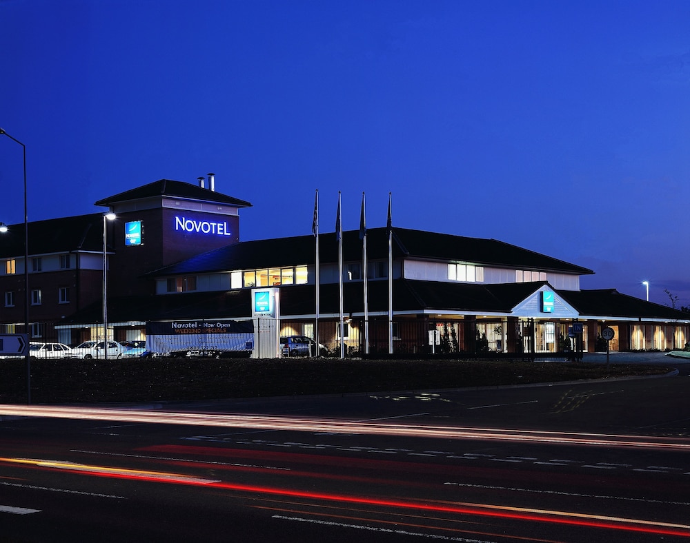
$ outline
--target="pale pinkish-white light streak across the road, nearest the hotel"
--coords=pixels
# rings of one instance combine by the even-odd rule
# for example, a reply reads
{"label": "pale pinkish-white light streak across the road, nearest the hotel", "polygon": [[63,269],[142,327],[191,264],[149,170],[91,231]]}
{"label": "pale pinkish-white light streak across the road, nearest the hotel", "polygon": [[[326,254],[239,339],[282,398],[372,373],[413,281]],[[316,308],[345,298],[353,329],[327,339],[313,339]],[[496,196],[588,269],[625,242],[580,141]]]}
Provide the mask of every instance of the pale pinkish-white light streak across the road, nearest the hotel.
{"label": "pale pinkish-white light streak across the road, nearest the hotel", "polygon": [[331,418],[294,418],[269,415],[237,415],[231,413],[185,413],[130,409],[97,409],[86,407],[48,407],[0,405],[0,416],[48,417],[79,420],[117,420],[151,424],[181,424],[206,427],[233,427],[308,432],[333,432],[444,438],[538,442],[596,447],[641,447],[690,452],[690,439],[624,436],[601,433],[524,431],[518,429],[464,428],[400,422],[357,422]]}

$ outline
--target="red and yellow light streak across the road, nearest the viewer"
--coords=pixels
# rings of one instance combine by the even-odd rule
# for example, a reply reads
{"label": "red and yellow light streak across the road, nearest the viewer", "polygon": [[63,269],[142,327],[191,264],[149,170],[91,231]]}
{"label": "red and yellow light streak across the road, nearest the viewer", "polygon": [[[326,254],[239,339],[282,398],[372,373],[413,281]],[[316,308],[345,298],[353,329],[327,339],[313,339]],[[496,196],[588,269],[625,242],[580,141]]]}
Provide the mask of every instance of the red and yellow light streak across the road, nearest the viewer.
{"label": "red and yellow light streak across the road, nearest the viewer", "polygon": [[259,493],[263,496],[315,500],[317,502],[331,502],[346,504],[347,506],[373,506],[383,509],[415,511],[415,513],[446,513],[452,515],[468,515],[480,518],[500,518],[505,520],[522,520],[528,522],[546,522],[549,524],[566,524],[596,529],[612,529],[633,533],[649,533],[657,535],[673,535],[690,538],[690,525],[656,522],[604,515],[588,515],[569,511],[552,511],[548,509],[532,509],[493,504],[477,504],[468,502],[417,502],[414,500],[400,500],[393,498],[367,498],[357,495],[331,494],[317,491],[303,491],[282,489],[272,486],[258,486],[253,484],[237,484],[195,478],[179,473],[164,473],[159,471],[142,471],[88,464],[75,464],[59,460],[41,460],[30,458],[0,458],[0,462],[9,464],[23,464],[44,469],[60,471],[75,471],[86,475],[113,477],[122,479],[136,479],[168,484],[186,484],[190,486],[204,486],[206,488],[223,489],[240,493]]}

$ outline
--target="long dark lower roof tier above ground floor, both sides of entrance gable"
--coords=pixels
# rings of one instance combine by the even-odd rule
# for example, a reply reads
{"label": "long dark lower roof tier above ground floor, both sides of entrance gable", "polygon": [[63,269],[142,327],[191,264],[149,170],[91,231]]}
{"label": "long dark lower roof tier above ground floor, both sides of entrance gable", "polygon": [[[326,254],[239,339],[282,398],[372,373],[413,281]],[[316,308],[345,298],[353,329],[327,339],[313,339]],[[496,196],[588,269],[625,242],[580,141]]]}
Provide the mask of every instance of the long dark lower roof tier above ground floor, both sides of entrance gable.
{"label": "long dark lower roof tier above ground floor, both sides of entrance gable", "polygon": [[[393,311],[406,312],[468,311],[509,313],[513,307],[528,298],[544,281],[535,283],[440,283],[396,279],[393,281]],[[319,312],[338,314],[337,284],[321,285]],[[640,317],[687,320],[689,315],[663,305],[620,294],[614,289],[557,291],[580,315],[611,318]],[[343,311],[346,315],[364,312],[363,283],[343,285]],[[388,281],[372,280],[368,283],[368,311],[385,313],[388,310]],[[161,296],[132,296],[108,299],[108,320],[175,320],[194,318],[250,318],[250,289],[225,292],[190,292]],[[291,285],[280,289],[280,311],[284,316],[313,315],[315,313],[314,285]],[[78,314],[63,321],[64,324],[101,322],[101,303],[94,303]]]}

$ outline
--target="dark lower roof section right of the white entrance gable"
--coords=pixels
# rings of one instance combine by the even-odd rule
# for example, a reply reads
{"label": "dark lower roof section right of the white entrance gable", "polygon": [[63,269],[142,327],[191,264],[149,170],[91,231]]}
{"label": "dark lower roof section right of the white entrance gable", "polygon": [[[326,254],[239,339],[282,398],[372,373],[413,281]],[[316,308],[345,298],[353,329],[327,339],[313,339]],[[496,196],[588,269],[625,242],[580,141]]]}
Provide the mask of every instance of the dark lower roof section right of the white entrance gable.
{"label": "dark lower roof section right of the white entrance gable", "polygon": [[621,294],[616,289],[560,290],[558,294],[567,303],[578,309],[581,315],[598,317],[639,317],[666,320],[687,320],[690,314]]}

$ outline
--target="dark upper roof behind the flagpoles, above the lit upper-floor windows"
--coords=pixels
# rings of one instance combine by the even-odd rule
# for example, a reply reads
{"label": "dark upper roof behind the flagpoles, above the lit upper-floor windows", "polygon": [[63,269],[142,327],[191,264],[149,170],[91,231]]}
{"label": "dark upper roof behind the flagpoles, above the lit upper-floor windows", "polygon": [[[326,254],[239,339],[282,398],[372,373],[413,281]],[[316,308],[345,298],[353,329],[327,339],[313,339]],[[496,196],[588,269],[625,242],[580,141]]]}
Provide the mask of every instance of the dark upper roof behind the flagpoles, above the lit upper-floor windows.
{"label": "dark upper roof behind the flagpoles, above the lit upper-floor windows", "polygon": [[[388,233],[385,227],[368,229],[366,240],[369,260],[388,258]],[[359,240],[359,230],[343,232],[342,246],[344,261],[362,260],[362,241]],[[320,263],[337,262],[337,250],[335,233],[319,235]],[[393,229],[393,256],[517,269],[551,270],[578,275],[593,274],[591,269],[493,239],[466,238],[406,228]],[[233,269],[313,265],[314,263],[315,239],[314,236],[307,235],[243,241],[157,269],[149,275],[213,273]]]}

